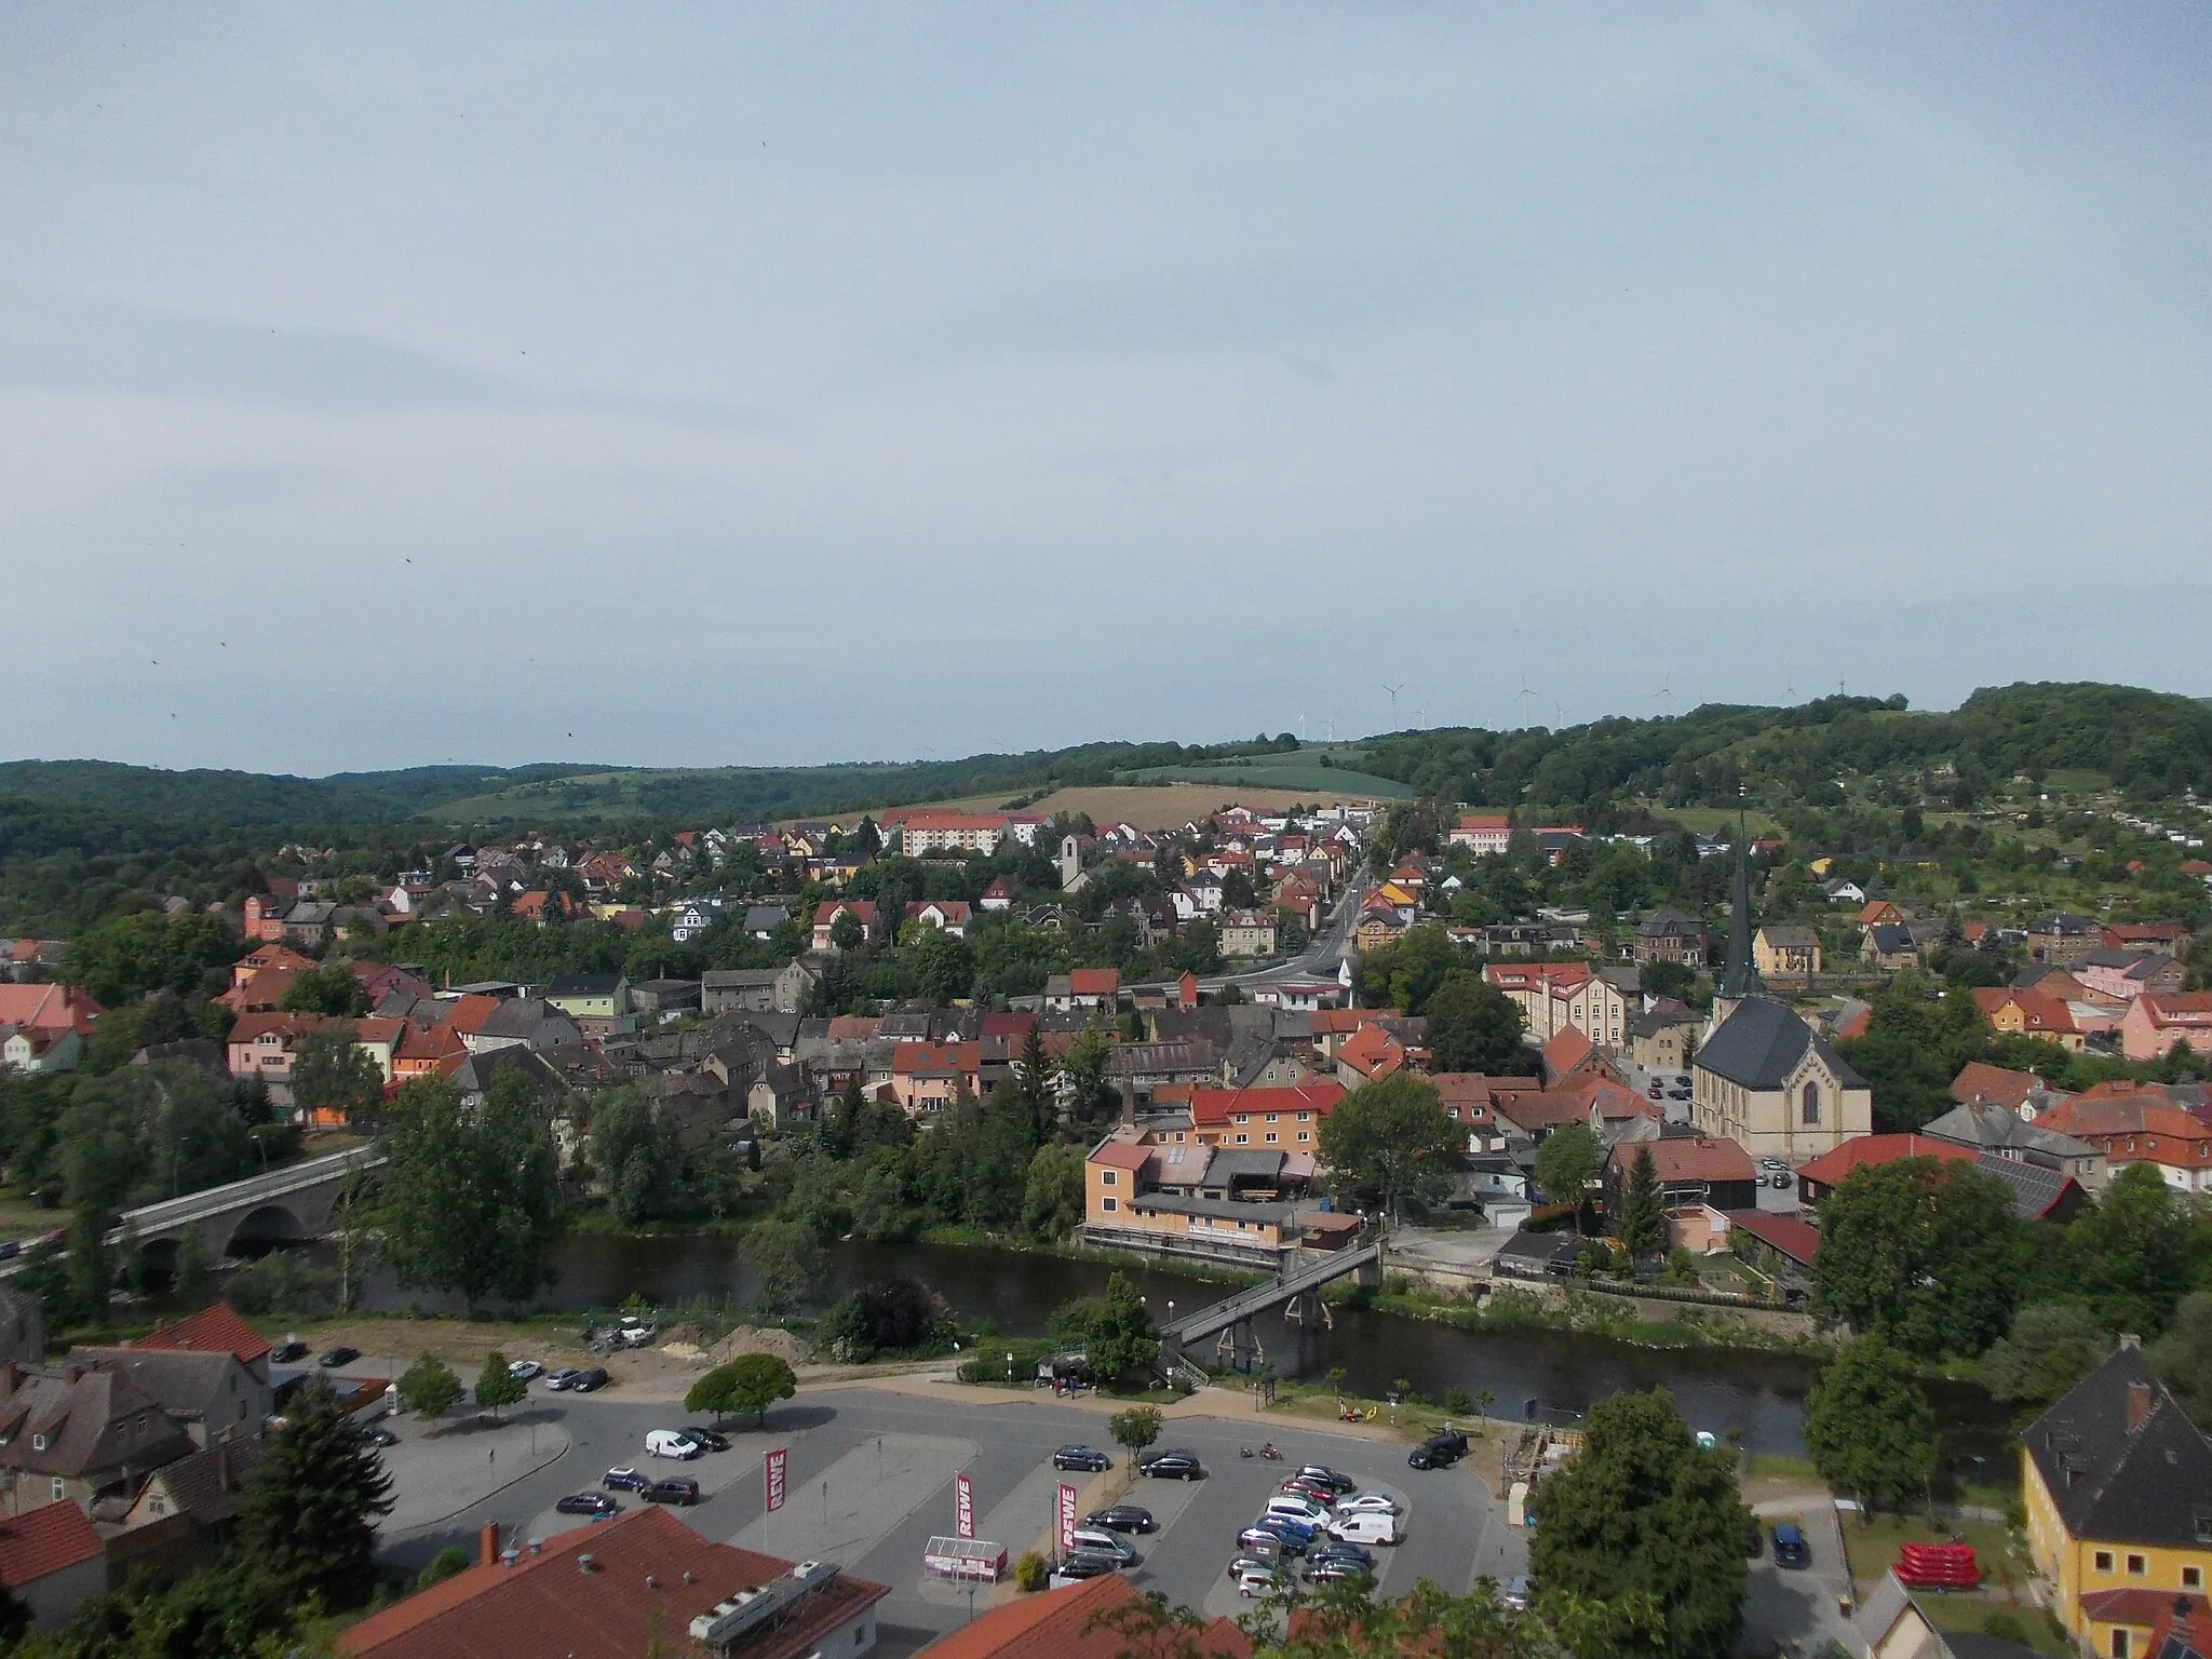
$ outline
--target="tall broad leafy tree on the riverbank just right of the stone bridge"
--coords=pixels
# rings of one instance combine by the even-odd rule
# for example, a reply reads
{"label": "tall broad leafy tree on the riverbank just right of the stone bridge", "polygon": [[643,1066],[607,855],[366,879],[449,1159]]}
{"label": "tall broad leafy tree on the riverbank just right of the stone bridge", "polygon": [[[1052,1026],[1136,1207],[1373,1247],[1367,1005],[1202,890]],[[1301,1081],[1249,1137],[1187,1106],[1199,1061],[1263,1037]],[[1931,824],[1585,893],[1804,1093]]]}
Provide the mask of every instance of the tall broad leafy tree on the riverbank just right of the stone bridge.
{"label": "tall broad leafy tree on the riverbank just right of the stone bridge", "polygon": [[522,1301],[551,1276],[560,1237],[553,1137],[529,1077],[500,1068],[471,1119],[442,1077],[407,1084],[385,1150],[385,1248],[403,1285]]}

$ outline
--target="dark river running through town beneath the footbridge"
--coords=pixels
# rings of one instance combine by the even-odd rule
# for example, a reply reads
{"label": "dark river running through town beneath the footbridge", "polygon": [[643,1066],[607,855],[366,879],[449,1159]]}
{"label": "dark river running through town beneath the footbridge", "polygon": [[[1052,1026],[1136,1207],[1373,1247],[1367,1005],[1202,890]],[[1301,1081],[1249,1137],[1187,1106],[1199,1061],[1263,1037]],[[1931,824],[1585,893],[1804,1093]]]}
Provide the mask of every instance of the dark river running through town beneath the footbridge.
{"label": "dark river running through town beneath the footbridge", "polygon": [[[633,1292],[655,1305],[703,1298],[743,1303],[752,1274],[734,1239],[710,1237],[568,1237],[555,1259],[560,1270],[544,1303],[557,1310],[611,1310]],[[1106,1263],[1018,1250],[929,1243],[838,1243],[818,1301],[827,1305],[858,1285],[909,1274],[942,1294],[967,1318],[991,1321],[1011,1336],[1044,1332],[1046,1316],[1064,1301],[1106,1287]],[[1130,1274],[1137,1292],[1161,1318],[1170,1303],[1183,1312],[1228,1294],[1228,1287],[1159,1267]],[[365,1307],[398,1312],[460,1312],[440,1296],[403,1292],[389,1274],[369,1281]],[[1608,1336],[1555,1329],[1462,1329],[1363,1307],[1338,1307],[1334,1327],[1298,1327],[1279,1316],[1259,1321],[1259,1338],[1285,1376],[1345,1371],[1345,1387],[1380,1398],[1396,1378],[1440,1400],[1447,1389],[1489,1389],[1491,1411],[1517,1418],[1535,1400],[1553,1420],[1588,1411],[1624,1389],[1666,1387],[1694,1429],[1736,1431],[1752,1451],[1803,1455],[1805,1391],[1816,1367],[1794,1354],[1725,1347],[1639,1347]],[[1947,1458],[1958,1467],[1997,1460],[2011,1451],[2002,1407],[1964,1383],[1931,1383]]]}

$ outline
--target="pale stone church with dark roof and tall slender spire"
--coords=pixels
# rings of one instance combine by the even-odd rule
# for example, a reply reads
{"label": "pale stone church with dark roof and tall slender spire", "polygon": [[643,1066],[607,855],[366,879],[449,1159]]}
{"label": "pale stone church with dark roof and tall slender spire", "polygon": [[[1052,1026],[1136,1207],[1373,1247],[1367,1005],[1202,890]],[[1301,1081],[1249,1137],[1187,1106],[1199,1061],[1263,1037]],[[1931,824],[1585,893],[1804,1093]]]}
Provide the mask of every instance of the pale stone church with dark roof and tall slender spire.
{"label": "pale stone church with dark roof and tall slender spire", "polygon": [[1741,827],[1728,973],[1712,1000],[1712,1020],[1690,1077],[1690,1113],[1699,1133],[1728,1137],[1752,1157],[1798,1166],[1874,1130],[1874,1091],[1865,1077],[1759,978]]}

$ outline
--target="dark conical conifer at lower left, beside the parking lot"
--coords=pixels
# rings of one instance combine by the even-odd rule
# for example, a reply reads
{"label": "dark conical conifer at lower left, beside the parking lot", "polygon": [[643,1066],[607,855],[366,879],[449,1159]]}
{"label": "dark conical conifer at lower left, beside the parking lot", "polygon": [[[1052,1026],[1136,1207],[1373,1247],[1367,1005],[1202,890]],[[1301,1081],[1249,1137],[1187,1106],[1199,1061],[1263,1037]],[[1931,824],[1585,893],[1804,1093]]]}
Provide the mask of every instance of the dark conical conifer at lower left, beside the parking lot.
{"label": "dark conical conifer at lower left, beside the parking lot", "polygon": [[294,1604],[314,1595],[354,1606],[376,1586],[376,1517],[392,1513],[389,1493],[376,1447],[330,1378],[314,1376],[246,1475],[239,1542]]}

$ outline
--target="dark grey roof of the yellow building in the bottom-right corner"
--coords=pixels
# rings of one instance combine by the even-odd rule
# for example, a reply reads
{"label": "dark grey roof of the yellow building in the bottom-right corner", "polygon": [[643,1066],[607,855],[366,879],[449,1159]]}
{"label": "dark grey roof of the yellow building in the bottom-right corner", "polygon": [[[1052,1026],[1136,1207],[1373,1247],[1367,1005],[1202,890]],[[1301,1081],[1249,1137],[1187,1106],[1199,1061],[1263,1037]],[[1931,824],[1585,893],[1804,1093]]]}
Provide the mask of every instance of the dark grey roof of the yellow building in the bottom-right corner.
{"label": "dark grey roof of the yellow building in the bottom-right corner", "polygon": [[[2135,1429],[2130,1389],[2150,1391]],[[2073,1537],[2199,1548],[2212,1528],[2212,1440],[2137,1345],[2075,1383],[2028,1427],[2026,1442]]]}

